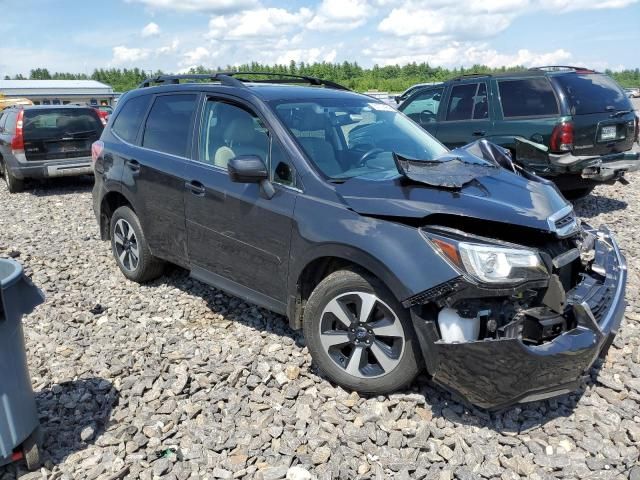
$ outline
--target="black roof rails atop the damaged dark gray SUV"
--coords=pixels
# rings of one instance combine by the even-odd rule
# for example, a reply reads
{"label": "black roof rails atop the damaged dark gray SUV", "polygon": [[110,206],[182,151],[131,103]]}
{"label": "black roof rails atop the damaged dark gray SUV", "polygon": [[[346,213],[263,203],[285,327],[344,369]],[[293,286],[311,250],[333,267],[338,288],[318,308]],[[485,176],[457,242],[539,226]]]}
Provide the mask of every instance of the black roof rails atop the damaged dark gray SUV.
{"label": "black roof rails atop the damaged dark gray SUV", "polygon": [[[266,79],[252,80],[247,78],[237,78],[239,76],[246,75],[260,75],[265,77],[271,77]],[[273,72],[220,72],[213,74],[184,74],[184,75],[160,75],[155,78],[149,78],[142,82],[138,88],[150,87],[153,84],[157,85],[175,85],[180,83],[180,80],[200,80],[200,81],[213,81],[220,82],[222,85],[230,87],[246,87],[245,83],[306,83],[309,85],[323,86],[327,88],[333,88],[336,90],[349,90],[344,85],[332,82],[330,80],[323,80],[321,78],[309,77],[306,75],[293,75],[289,73],[273,73]]]}

